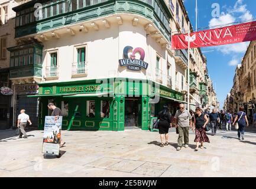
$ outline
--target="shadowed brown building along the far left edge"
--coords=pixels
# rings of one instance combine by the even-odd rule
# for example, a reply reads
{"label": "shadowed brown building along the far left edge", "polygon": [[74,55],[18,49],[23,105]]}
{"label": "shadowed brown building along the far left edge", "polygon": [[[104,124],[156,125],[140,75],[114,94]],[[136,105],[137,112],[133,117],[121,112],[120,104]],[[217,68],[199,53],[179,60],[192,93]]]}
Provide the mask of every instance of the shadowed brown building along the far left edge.
{"label": "shadowed brown building along the far left edge", "polygon": [[15,41],[15,12],[12,11],[20,1],[0,1],[0,129],[8,129],[12,126],[13,111],[16,109],[14,90],[12,89],[9,75],[10,56],[8,47],[17,45]]}

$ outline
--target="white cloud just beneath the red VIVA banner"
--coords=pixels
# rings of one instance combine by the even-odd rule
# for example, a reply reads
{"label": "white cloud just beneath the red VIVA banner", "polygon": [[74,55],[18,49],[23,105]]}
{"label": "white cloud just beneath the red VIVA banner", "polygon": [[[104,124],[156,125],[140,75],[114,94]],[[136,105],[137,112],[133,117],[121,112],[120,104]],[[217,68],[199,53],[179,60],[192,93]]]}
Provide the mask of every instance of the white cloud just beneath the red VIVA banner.
{"label": "white cloud just beneath the red VIVA banner", "polygon": [[245,53],[248,45],[249,45],[249,42],[234,43],[234,44],[216,46],[215,49],[217,51],[220,51],[223,54]]}

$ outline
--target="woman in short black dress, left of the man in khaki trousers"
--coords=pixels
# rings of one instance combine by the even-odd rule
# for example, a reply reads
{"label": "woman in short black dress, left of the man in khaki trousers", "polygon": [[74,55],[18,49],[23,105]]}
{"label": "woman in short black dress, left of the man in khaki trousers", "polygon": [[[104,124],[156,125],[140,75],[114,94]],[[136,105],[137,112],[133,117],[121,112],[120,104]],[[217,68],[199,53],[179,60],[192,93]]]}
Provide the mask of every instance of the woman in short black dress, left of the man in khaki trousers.
{"label": "woman in short black dress, left of the man in khaki trousers", "polygon": [[[161,147],[163,147],[164,145],[167,146],[168,145],[168,137],[169,137],[168,132],[169,132],[169,128],[171,127],[171,115],[170,115],[167,105],[163,106],[163,110],[161,110],[161,112],[158,113],[157,119],[159,119],[158,130],[159,130],[160,138],[161,138],[160,146]],[[166,138],[165,143],[163,143],[164,137]]]}

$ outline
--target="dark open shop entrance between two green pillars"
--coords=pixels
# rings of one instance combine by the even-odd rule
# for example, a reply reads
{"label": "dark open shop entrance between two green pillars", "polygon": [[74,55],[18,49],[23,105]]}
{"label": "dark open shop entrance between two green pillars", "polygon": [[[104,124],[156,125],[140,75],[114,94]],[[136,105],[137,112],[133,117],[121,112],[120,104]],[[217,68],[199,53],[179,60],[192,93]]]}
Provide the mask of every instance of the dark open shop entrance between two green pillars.
{"label": "dark open shop entrance between two green pillars", "polygon": [[141,99],[125,99],[125,126],[141,127]]}

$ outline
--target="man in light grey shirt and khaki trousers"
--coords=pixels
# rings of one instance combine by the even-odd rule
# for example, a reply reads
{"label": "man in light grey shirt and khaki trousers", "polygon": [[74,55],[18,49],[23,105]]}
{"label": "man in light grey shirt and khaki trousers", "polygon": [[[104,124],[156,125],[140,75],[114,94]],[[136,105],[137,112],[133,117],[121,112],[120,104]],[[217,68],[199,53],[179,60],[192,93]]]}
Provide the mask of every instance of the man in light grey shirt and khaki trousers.
{"label": "man in light grey shirt and khaki trousers", "polygon": [[184,104],[180,104],[180,109],[175,114],[175,123],[179,132],[177,151],[180,151],[183,146],[183,138],[185,148],[189,147],[189,128],[192,128],[192,116],[185,109]]}

